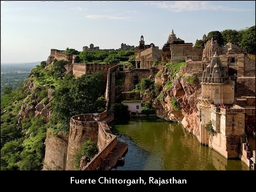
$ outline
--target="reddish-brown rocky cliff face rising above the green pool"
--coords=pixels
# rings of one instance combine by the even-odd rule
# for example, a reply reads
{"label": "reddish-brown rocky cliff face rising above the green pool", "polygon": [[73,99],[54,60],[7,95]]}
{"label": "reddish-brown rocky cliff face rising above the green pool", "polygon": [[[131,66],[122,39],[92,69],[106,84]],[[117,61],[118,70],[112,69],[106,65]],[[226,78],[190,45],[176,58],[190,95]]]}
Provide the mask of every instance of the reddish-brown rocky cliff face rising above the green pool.
{"label": "reddish-brown rocky cliff face rising above the green pool", "polygon": [[[199,120],[200,111],[198,110],[197,97],[201,95],[201,84],[196,79],[193,83],[188,84],[185,79],[189,74],[177,74],[175,78],[172,78],[172,86],[167,88],[165,84],[167,80],[171,78],[168,72],[165,73],[165,68],[159,68],[161,76],[155,77],[155,85],[160,85],[162,91],[162,101],[156,98],[154,100],[154,107],[156,114],[160,118],[164,118],[167,121],[176,121],[181,123],[184,128],[193,133],[197,137],[199,136]],[[180,104],[180,110],[175,110],[171,104],[172,98],[175,98]]]}

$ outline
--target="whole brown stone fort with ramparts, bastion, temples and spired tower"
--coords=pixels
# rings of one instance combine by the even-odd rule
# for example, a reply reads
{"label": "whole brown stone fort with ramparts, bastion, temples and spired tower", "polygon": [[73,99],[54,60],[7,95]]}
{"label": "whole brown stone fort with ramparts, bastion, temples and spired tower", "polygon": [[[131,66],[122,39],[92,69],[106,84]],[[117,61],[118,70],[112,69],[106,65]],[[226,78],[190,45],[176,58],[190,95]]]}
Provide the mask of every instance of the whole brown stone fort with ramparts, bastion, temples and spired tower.
{"label": "whole brown stone fort with ramparts, bastion, temples and spired tower", "polygon": [[[125,82],[120,92],[130,91],[141,79],[155,76],[157,71],[152,68],[154,61],[161,61],[164,66],[167,62],[174,65],[185,60],[186,66],[181,71],[197,76],[202,85],[202,93],[198,97],[201,111],[198,123],[200,143],[208,145],[227,159],[239,157],[249,166],[252,151],[246,151],[241,137],[246,126],[255,124],[255,59],[250,59],[245,49],[231,43],[219,47],[217,41],[209,40],[204,48],[195,48],[192,43],[185,43],[182,39],[176,38],[173,30],[162,49],[156,47],[154,43],[145,45],[144,37],[141,36],[139,46],[135,47],[134,51],[135,69],[124,68]],[[124,150],[127,149],[127,145],[117,141],[116,136],[105,124],[113,119],[112,107],[117,101],[114,82],[120,65],[75,63],[75,58],[76,55],[51,49],[47,64],[54,59],[67,60],[69,62],[67,69],[75,77],[101,71],[106,85],[107,110],[101,114],[81,114],[72,117],[69,137],[64,138],[65,142],[57,141],[60,142],[57,146],[64,148],[47,150],[44,167],[49,167],[48,169],[53,167],[51,156],[54,153],[59,153],[62,157],[54,161],[55,167],[62,170],[74,169],[72,161],[74,153],[88,138],[97,142],[99,153],[89,164],[85,163],[81,166],[81,170],[95,170],[103,165],[110,152],[119,146]],[[220,107],[218,104],[228,108]],[[94,116],[99,118],[99,122],[92,121]],[[212,122],[216,132],[214,136],[205,129],[209,121]],[[50,137],[47,139],[46,148],[56,142]],[[119,157],[122,155],[123,153],[118,154]]]}

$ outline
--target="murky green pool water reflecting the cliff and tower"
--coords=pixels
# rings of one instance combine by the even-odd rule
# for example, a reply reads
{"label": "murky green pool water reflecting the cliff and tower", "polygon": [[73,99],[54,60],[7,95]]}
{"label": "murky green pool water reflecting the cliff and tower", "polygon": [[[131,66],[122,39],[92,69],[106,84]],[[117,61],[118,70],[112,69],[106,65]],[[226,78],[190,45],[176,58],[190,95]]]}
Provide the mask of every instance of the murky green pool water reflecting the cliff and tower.
{"label": "murky green pool water reflecting the cliff and tower", "polygon": [[128,143],[124,166],[117,170],[249,170],[240,160],[227,160],[178,123],[159,118],[131,118],[111,125]]}

